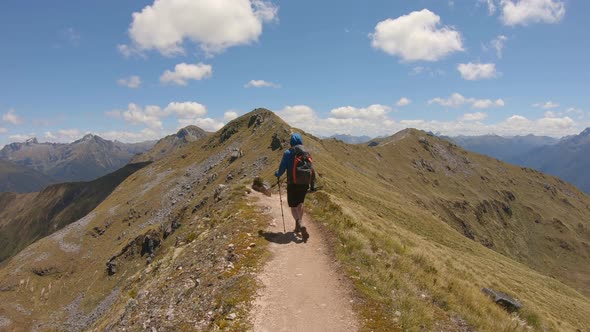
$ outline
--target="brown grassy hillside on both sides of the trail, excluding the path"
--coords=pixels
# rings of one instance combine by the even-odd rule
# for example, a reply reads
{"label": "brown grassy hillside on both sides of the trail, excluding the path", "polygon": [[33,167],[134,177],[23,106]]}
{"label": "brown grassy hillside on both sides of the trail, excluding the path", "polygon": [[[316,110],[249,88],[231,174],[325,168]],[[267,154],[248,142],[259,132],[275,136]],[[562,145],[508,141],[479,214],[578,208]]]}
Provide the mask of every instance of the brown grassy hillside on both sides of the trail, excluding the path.
{"label": "brown grassy hillside on both sides of the trail, excluding the path", "polygon": [[[268,257],[254,234],[270,220],[245,186],[276,181],[291,130],[259,109],[129,176],[6,262],[0,321],[247,330],[241,315]],[[417,130],[373,147],[304,142],[323,187],[306,205],[354,286],[363,330],[590,328],[588,196]],[[525,307],[513,316],[483,287]]]}

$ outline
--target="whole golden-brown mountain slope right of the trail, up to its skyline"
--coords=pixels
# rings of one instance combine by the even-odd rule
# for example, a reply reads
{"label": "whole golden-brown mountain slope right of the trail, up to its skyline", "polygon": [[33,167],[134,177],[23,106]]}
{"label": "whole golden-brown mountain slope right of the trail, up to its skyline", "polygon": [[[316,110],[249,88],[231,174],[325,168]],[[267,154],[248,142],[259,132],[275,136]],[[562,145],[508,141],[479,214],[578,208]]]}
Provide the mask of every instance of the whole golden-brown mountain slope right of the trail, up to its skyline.
{"label": "whole golden-brown mountain slope right of the trail, up to its skyline", "polygon": [[[331,141],[318,150],[330,153],[314,155],[326,192],[315,214],[337,234],[337,254],[375,307],[405,308],[404,329],[432,328],[441,315],[476,330],[507,328],[500,316],[488,320],[483,287],[523,300],[533,327],[590,325],[582,314],[590,313],[590,198],[573,186],[416,130],[372,150]],[[393,324],[373,310],[381,311],[367,318]]]}

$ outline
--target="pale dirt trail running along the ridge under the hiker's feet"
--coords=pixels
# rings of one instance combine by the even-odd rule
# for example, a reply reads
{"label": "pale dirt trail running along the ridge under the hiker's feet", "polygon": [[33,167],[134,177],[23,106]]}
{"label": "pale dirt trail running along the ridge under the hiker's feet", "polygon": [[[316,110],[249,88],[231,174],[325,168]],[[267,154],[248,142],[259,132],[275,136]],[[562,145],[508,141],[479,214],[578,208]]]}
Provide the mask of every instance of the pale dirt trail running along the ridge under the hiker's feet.
{"label": "pale dirt trail running along the ridge under the hiker's feet", "polygon": [[352,297],[317,227],[304,216],[310,238],[307,243],[295,238],[295,222],[283,197],[287,225],[283,234],[279,196],[257,195],[260,206],[270,207],[274,225],[262,234],[270,241],[272,258],[259,275],[264,287],[254,302],[254,331],[357,331]]}

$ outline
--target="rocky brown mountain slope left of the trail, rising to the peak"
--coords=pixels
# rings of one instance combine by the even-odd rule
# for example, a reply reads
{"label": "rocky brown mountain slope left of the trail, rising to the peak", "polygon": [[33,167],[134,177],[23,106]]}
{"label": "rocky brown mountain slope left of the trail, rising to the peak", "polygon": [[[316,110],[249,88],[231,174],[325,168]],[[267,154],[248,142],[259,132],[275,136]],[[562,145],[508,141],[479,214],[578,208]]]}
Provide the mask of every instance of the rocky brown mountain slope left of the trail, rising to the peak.
{"label": "rocky brown mountain slope left of the trail, rising to the peak", "polygon": [[[273,116],[249,114],[152,163],[84,218],[11,258],[0,269],[0,317],[24,330],[227,324],[227,311],[252,294],[264,253],[262,239],[247,234],[268,220],[243,202],[239,183],[263,169],[270,176],[270,160],[282,154],[269,146],[289,132]],[[247,152],[232,158],[240,149]],[[170,301],[180,306],[166,320]]]}

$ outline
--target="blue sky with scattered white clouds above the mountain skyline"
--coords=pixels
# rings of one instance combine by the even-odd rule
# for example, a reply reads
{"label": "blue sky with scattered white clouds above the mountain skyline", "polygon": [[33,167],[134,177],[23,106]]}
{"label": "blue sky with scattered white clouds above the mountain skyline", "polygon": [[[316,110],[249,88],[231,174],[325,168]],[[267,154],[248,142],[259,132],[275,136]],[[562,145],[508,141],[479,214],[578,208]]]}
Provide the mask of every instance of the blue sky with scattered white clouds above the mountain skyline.
{"label": "blue sky with scattered white clouds above the mountain skyline", "polygon": [[[590,126],[581,0],[13,1],[0,144],[156,139],[269,108],[318,135]],[[166,73],[168,71],[168,73]]]}

